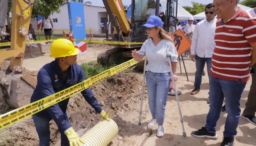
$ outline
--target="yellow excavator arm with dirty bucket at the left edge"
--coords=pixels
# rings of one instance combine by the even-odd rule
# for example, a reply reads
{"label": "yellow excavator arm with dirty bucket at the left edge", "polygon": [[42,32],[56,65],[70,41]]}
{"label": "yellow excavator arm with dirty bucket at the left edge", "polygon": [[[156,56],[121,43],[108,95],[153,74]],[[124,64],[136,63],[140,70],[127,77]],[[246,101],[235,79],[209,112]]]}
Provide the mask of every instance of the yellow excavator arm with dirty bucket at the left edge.
{"label": "yellow excavator arm with dirty bucket at the left edge", "polygon": [[[37,80],[23,73],[23,57],[33,4],[36,0],[12,0],[11,49],[1,49],[0,63],[10,58],[9,67],[0,68],[0,102],[19,108],[30,103]],[[0,36],[9,0],[0,0]]]}

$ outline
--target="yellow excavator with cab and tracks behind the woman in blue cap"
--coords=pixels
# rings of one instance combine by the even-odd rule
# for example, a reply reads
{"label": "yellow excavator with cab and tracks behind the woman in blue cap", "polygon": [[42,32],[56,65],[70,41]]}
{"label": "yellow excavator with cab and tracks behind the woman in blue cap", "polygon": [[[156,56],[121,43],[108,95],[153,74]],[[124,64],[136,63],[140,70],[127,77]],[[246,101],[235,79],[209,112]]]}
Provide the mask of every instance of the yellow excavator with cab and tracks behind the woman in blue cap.
{"label": "yellow excavator with cab and tracks behind the woman in blue cap", "polygon": [[[109,16],[108,22],[111,22],[114,27],[112,41],[143,43],[147,40],[146,28],[140,28],[140,26],[147,22],[150,16],[149,9],[150,11],[154,10],[155,15],[162,19],[162,28],[166,32],[173,33],[176,30],[178,0],[131,0],[131,5],[129,6],[131,9],[127,10],[130,11],[130,18],[127,18],[121,0],[102,1]],[[166,5],[165,12],[163,12],[161,5]],[[141,46],[142,44],[115,45],[112,49],[101,52],[97,61],[102,65],[108,65],[113,62],[119,63],[120,59],[130,59],[132,57],[131,51],[134,49],[139,50]],[[143,61],[138,63],[140,67],[143,65]]]}

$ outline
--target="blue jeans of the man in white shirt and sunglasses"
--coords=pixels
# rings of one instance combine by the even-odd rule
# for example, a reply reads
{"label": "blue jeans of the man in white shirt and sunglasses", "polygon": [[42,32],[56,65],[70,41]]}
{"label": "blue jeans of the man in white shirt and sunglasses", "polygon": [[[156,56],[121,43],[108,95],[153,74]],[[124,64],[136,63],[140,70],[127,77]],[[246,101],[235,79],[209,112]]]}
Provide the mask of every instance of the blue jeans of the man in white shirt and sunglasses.
{"label": "blue jeans of the man in white shirt and sunglasses", "polygon": [[204,71],[204,65],[207,65],[207,73],[210,78],[210,69],[212,67],[212,58],[202,58],[196,55],[196,75],[195,75],[195,83],[194,87],[197,89],[201,88],[202,83],[202,73]]}

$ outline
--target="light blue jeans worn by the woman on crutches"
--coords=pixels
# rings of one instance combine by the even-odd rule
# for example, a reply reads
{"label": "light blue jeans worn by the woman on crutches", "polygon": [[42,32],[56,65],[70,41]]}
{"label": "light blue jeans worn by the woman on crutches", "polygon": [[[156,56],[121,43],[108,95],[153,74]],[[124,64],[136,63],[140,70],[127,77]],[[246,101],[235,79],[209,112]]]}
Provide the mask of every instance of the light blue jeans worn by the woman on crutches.
{"label": "light blue jeans worn by the woman on crutches", "polygon": [[146,72],[146,84],[148,88],[148,105],[156,123],[163,124],[165,119],[165,106],[170,89],[170,72],[155,73]]}

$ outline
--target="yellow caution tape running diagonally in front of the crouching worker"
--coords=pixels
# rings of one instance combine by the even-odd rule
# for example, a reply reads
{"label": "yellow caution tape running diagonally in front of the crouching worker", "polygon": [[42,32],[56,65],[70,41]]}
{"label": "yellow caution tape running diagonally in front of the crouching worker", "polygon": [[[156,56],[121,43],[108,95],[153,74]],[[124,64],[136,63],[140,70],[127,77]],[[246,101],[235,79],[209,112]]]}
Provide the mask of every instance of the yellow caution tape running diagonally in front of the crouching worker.
{"label": "yellow caution tape running diagonally in front of the crouching worker", "polygon": [[14,123],[17,123],[20,120],[25,119],[28,116],[34,115],[35,113],[38,113],[38,112],[48,108],[49,106],[59,103],[65,99],[77,94],[78,92],[81,92],[81,91],[87,89],[91,85],[94,85],[105,78],[115,75],[115,74],[137,64],[137,63],[138,63],[137,61],[135,61],[134,59],[131,59],[131,60],[126,61],[120,65],[117,65],[113,68],[103,71],[98,75],[88,78],[88,79],[84,80],[83,82],[73,85],[65,90],[62,90],[53,95],[47,96],[43,99],[37,100],[33,103],[30,103],[26,106],[23,106],[18,109],[12,110],[8,113],[5,113],[0,116],[0,130],[5,127],[8,127]]}

